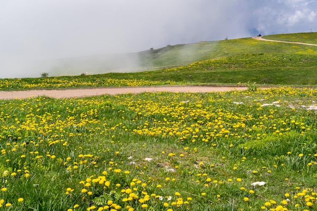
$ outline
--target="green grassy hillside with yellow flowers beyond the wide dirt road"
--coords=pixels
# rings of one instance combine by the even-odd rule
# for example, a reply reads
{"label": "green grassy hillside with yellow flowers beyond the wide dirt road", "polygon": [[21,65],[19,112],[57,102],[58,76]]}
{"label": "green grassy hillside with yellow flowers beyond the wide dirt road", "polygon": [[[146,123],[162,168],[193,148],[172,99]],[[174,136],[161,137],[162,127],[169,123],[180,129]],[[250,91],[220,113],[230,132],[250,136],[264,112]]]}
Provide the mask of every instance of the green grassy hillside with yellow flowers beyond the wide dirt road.
{"label": "green grassy hillside with yellow flowers beyond the wide dirt road", "polygon": [[[310,37],[302,40],[307,42],[317,37],[317,33],[298,33],[287,36],[298,41],[304,35]],[[272,36],[274,39],[281,40],[286,37],[285,34]],[[275,43],[254,40],[250,37],[205,41],[139,52],[137,54],[140,66],[137,69],[143,72],[3,80],[0,88],[18,90],[197,83],[210,85],[247,81],[255,81],[263,85],[314,86],[317,85],[316,50],[316,46]],[[135,58],[136,55],[130,54],[130,57]],[[153,71],[153,69],[159,70]],[[121,81],[142,79],[147,82],[113,83],[109,82],[109,79]]]}

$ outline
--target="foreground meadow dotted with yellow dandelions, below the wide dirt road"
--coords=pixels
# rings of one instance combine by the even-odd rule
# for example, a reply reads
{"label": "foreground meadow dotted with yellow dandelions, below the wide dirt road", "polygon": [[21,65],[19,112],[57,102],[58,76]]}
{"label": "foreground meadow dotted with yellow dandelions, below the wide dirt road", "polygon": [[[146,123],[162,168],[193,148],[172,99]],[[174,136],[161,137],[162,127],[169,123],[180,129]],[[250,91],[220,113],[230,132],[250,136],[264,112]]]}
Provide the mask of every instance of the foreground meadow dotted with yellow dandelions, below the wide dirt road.
{"label": "foreground meadow dotted with yellow dandelions, below the wide dirt road", "polygon": [[0,101],[0,210],[314,210],[317,89]]}

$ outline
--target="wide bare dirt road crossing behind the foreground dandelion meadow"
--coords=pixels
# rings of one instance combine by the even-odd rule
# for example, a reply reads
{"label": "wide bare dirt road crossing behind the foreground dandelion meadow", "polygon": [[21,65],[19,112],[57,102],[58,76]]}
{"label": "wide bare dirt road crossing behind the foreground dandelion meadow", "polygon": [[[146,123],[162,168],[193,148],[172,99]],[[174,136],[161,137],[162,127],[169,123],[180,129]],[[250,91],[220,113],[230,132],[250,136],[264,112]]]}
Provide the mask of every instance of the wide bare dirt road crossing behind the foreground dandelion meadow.
{"label": "wide bare dirt road crossing behind the foreground dandelion meadow", "polygon": [[186,86],[186,87],[125,87],[125,88],[95,88],[95,89],[71,89],[71,90],[27,90],[27,91],[2,91],[1,100],[25,99],[38,96],[48,96],[54,98],[74,98],[98,95],[116,94],[137,94],[142,92],[227,92],[233,90],[247,90],[247,87],[205,87],[205,86]]}

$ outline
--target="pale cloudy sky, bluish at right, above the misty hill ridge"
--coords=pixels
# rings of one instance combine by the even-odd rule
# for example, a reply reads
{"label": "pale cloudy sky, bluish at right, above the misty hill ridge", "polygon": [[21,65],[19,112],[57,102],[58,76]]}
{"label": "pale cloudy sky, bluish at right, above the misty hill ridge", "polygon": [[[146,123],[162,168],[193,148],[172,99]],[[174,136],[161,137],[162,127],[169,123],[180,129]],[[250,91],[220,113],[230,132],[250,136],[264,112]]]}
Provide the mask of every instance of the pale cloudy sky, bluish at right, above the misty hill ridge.
{"label": "pale cloudy sky, bluish at right, above the misty hill ridge", "polygon": [[310,31],[315,0],[1,0],[0,78],[38,77],[30,61]]}

